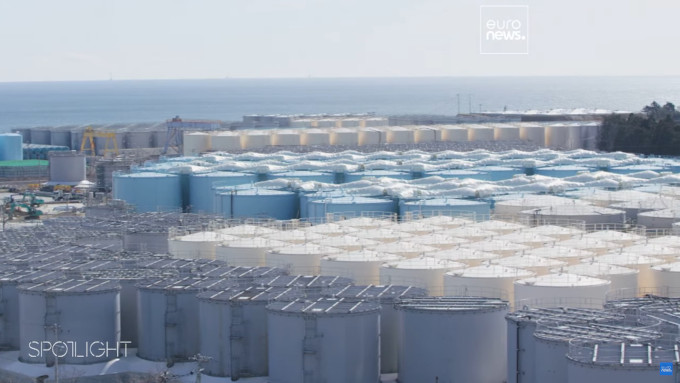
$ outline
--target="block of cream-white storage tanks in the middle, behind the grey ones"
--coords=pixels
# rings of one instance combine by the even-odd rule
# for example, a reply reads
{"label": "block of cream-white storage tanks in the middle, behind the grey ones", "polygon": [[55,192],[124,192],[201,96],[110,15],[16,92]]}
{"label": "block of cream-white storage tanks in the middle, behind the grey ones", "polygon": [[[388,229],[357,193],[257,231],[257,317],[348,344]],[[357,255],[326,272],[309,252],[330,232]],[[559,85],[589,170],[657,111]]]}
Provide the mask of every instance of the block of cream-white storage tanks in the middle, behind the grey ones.
{"label": "block of cream-white storage tanks in the middle, behind the grey ones", "polygon": [[402,223],[363,217],[288,230],[246,224],[171,235],[168,252],[361,284],[405,284],[433,296],[495,297],[518,307],[599,307],[607,296],[680,294],[678,237],[583,225],[448,216]]}

